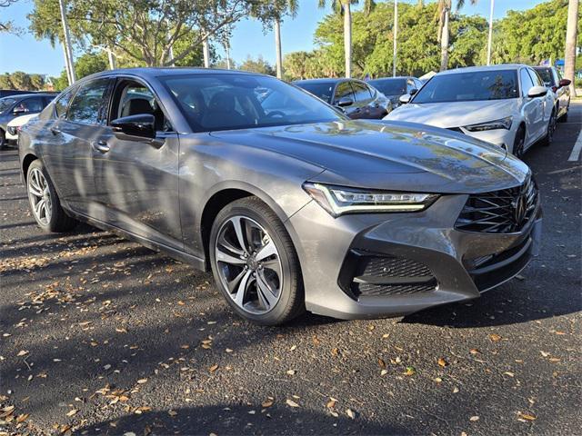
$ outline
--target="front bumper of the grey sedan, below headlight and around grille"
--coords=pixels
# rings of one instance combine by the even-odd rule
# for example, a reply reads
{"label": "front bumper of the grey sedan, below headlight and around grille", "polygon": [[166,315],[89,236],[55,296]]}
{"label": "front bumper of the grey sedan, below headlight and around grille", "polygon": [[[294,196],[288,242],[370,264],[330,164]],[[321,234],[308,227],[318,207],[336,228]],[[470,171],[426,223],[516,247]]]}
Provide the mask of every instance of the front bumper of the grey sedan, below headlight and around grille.
{"label": "front bumper of the grey sedan, below headlight and around grille", "polygon": [[[537,255],[539,203],[535,218],[519,233],[470,233],[455,229],[466,202],[466,194],[445,195],[422,213],[336,219],[317,203],[308,203],[287,221],[302,266],[306,309],[340,319],[399,316],[475,299],[513,278]],[[426,266],[429,273],[420,275],[431,277],[423,278],[426,286],[420,289],[400,282],[391,289],[403,292],[350,292],[361,279],[356,277],[355,254],[405,259]],[[365,284],[374,287],[374,281]]]}

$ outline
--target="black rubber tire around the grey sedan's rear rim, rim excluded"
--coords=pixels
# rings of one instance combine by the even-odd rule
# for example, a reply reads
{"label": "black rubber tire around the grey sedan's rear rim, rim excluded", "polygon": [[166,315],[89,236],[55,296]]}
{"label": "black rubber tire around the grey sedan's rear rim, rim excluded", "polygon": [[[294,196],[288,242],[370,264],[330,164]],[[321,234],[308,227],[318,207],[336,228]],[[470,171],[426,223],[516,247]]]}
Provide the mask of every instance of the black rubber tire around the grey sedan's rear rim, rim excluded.
{"label": "black rubber tire around the grey sedan's rear rim, rim excluded", "polygon": [[[46,188],[48,189],[48,195],[50,198],[50,206],[48,206],[50,217],[47,219],[39,218],[35,213],[35,205],[34,205],[34,197],[35,195],[31,193],[31,184],[33,177],[33,173],[35,171],[40,171],[42,175],[45,177]],[[36,159],[33,163],[30,164],[28,167],[28,171],[26,172],[26,193],[28,194],[28,202],[30,203],[30,208],[33,216],[35,217],[36,223],[38,223],[39,227],[43,229],[47,233],[62,233],[68,232],[75,228],[77,221],[74,218],[71,218],[65,213],[65,210],[61,207],[61,202],[58,198],[58,195],[55,191],[55,186],[51,182],[48,173],[46,173],[45,165]]]}

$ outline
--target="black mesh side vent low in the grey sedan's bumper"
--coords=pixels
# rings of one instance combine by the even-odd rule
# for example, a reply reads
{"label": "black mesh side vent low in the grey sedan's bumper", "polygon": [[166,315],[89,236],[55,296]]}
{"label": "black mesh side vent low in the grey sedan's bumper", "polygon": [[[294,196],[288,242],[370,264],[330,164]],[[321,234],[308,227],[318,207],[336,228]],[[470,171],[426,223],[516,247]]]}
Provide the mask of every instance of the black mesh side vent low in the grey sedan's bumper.
{"label": "black mesh side vent low in the grey sedan's bumper", "polygon": [[355,299],[410,295],[437,289],[437,279],[430,269],[412,259],[352,252],[344,267],[340,286]]}

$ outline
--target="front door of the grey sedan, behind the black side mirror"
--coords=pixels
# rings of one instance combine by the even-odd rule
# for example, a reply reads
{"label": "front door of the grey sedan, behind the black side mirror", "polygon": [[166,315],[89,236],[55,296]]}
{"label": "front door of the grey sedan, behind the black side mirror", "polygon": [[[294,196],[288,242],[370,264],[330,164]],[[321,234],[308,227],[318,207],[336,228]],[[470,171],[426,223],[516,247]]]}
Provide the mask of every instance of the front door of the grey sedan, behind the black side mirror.
{"label": "front door of the grey sedan, behind the black side mirror", "polygon": [[[115,134],[111,121],[136,114],[156,117],[156,139]],[[117,77],[109,123],[93,150],[95,203],[107,223],[146,241],[182,250],[178,207],[178,134],[145,82]]]}

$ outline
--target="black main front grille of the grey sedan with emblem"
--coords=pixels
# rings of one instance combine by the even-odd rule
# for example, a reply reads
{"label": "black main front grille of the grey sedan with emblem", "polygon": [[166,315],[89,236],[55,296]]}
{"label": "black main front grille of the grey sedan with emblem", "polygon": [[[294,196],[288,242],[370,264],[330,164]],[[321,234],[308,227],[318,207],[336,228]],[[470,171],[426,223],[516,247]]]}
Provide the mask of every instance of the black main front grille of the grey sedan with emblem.
{"label": "black main front grille of the grey sedan with emblem", "polygon": [[530,176],[515,188],[471,194],[455,228],[478,233],[519,232],[535,218],[537,196],[536,183]]}

